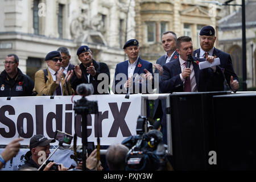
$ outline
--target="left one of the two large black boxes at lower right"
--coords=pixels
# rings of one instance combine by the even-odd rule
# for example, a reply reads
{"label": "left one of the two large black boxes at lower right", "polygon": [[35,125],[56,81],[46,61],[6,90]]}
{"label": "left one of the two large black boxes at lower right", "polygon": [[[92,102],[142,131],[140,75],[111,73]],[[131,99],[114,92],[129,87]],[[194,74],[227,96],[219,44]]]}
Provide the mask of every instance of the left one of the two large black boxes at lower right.
{"label": "left one of the two large black boxes at lower right", "polygon": [[[231,92],[173,93],[170,96],[174,170],[210,170],[214,142],[213,96]],[[168,131],[167,131],[168,132]]]}

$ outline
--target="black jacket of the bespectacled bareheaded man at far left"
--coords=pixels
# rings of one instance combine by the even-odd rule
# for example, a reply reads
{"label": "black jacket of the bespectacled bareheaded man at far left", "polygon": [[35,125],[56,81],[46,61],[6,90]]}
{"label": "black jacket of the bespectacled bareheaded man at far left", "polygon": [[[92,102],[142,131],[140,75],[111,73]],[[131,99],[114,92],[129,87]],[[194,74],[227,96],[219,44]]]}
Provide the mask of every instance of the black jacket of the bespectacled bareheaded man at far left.
{"label": "black jacket of the bespectacled bareheaded man at far left", "polygon": [[0,97],[32,96],[34,81],[19,68],[17,75],[10,79],[6,71],[0,75]]}

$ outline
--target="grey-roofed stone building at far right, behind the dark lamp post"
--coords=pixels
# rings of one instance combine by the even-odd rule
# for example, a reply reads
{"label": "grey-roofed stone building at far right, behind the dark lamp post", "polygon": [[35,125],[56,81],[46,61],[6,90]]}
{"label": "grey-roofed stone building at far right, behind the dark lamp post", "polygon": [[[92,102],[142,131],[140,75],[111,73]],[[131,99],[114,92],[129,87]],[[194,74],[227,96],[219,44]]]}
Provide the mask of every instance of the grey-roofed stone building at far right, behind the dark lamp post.
{"label": "grey-roofed stone building at far right, behind the dark lamp post", "polygon": [[[234,1],[241,5],[241,1]],[[247,88],[256,86],[256,1],[245,2],[246,18],[246,84]],[[229,8],[228,8],[229,10]],[[242,10],[241,6],[229,11],[229,15],[219,20],[220,48],[230,53],[234,71],[242,80]],[[255,89],[254,89],[255,90]]]}

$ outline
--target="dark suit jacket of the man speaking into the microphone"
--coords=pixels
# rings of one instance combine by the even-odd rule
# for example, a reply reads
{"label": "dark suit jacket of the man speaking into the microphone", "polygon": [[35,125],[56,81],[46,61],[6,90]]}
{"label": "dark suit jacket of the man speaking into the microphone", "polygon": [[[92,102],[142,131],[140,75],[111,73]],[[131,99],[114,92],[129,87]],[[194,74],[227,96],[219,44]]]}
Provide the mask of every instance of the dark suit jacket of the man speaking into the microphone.
{"label": "dark suit jacket of the man speaking into the microphone", "polygon": [[[205,59],[196,59],[199,61],[205,61]],[[199,65],[195,62],[192,63],[195,71],[196,85],[198,92],[210,92],[214,91],[212,84],[220,83],[223,86],[224,77],[221,73],[221,69],[217,67],[214,73],[211,68],[199,69]],[[180,61],[179,57],[165,65],[163,65],[163,76],[160,81],[160,90],[163,93],[172,92],[184,92],[183,81],[180,79]]]}

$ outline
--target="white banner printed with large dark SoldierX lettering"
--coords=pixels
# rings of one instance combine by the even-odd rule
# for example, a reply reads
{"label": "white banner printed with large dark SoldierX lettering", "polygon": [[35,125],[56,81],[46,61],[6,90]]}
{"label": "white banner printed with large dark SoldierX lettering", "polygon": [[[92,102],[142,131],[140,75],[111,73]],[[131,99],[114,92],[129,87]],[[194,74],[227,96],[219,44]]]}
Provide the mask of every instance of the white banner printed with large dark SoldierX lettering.
{"label": "white banner printed with large dark SoldierX lettering", "polygon": [[[132,94],[129,99],[125,95],[91,95],[85,98],[97,101],[99,111],[98,115],[88,114],[88,142],[97,144],[99,135],[101,145],[110,145],[136,134],[141,94]],[[81,96],[73,97],[73,101],[80,99]],[[20,143],[27,145],[35,134],[54,138],[55,131],[60,130],[71,135],[76,131],[77,145],[82,145],[82,117],[75,114],[73,107],[72,96],[11,97],[10,100],[0,97],[0,144],[8,144],[20,135],[24,138]]]}

